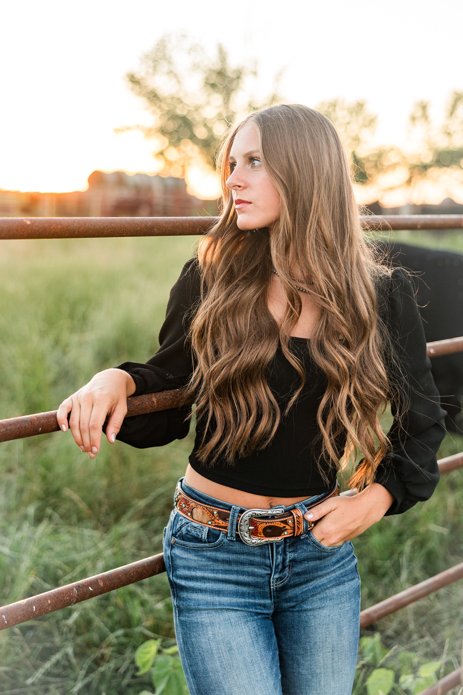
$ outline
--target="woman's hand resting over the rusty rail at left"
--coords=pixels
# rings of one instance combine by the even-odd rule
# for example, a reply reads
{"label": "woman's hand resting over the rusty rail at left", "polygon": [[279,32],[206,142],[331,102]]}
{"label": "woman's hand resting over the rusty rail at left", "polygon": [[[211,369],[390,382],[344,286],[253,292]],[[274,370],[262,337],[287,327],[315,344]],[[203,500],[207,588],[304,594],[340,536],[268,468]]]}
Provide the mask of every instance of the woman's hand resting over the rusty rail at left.
{"label": "woman's hand resting over the rusty rail at left", "polygon": [[94,459],[100,450],[104,421],[109,416],[106,436],[114,444],[126,416],[127,397],[135,393],[135,389],[131,375],[121,369],[99,372],[82,389],[63,400],[56,416],[58,424],[63,432],[67,432],[70,413],[69,428],[74,441]]}

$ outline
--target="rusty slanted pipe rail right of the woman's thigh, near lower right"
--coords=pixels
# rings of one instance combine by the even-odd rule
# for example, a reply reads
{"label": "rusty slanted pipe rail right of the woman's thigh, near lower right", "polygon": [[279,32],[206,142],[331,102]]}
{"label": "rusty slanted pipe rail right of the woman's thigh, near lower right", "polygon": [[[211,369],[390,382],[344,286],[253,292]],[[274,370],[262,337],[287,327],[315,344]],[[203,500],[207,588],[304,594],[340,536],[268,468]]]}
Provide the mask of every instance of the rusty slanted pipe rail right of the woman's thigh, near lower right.
{"label": "rusty slanted pipe rail right of the woman's thigh, near lower right", "polygon": [[405,589],[401,591],[400,594],[395,594],[395,596],[390,596],[376,605],[362,610],[360,613],[360,628],[366,628],[371,625],[371,623],[376,623],[376,621],[384,618],[385,616],[395,613],[396,611],[404,608],[410,603],[423,598],[424,596],[429,596],[429,594],[434,594],[442,587],[446,587],[447,584],[452,584],[459,579],[463,578],[463,562],[446,569],[444,572],[439,572],[439,574],[429,579],[424,580],[416,584],[410,589]]}

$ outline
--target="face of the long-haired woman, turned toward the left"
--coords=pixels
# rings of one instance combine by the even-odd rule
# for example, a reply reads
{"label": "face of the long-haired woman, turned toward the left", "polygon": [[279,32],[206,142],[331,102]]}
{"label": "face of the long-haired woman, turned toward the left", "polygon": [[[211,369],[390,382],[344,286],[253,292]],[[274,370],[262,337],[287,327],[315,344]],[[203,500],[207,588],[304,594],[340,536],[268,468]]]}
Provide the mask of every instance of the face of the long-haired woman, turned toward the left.
{"label": "face of the long-haired woman, turned toward the left", "polygon": [[252,122],[239,129],[230,150],[227,181],[239,229],[271,227],[280,217],[280,197],[260,161],[258,132]]}

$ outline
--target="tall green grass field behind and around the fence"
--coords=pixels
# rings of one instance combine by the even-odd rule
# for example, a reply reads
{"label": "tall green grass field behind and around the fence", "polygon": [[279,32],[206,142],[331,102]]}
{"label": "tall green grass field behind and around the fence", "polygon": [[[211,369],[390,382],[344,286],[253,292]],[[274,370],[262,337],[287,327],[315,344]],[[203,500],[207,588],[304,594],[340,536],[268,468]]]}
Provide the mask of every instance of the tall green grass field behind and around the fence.
{"label": "tall green grass field behind and around the fence", "polygon": [[[402,238],[463,252],[461,233]],[[1,242],[0,418],[56,409],[97,371],[149,359],[193,253],[192,237]],[[148,450],[103,439],[93,461],[69,432],[0,445],[1,605],[160,552],[193,434]],[[461,450],[447,435],[439,456]],[[460,470],[355,539],[363,607],[461,562],[462,512]],[[462,605],[457,582],[364,630],[353,693],[410,695],[453,671]],[[158,639],[175,645],[165,574],[0,632],[0,693],[155,692],[135,651]]]}

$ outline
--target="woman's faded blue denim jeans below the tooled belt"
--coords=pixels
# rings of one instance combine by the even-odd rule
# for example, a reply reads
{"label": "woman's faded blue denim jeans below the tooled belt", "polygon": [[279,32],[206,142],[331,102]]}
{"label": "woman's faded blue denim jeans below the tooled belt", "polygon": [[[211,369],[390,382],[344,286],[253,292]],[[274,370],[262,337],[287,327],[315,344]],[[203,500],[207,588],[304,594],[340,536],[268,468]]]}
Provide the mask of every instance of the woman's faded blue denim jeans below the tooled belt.
{"label": "woman's faded blue denim jeans below the tooled belt", "polygon": [[[176,509],[165,529],[191,695],[351,695],[360,619],[352,543],[326,548],[304,522],[299,537],[248,546],[235,533],[244,509],[180,482],[198,502],[230,511],[228,534]],[[305,513],[306,504],[293,507]]]}

